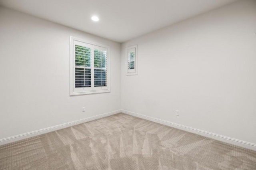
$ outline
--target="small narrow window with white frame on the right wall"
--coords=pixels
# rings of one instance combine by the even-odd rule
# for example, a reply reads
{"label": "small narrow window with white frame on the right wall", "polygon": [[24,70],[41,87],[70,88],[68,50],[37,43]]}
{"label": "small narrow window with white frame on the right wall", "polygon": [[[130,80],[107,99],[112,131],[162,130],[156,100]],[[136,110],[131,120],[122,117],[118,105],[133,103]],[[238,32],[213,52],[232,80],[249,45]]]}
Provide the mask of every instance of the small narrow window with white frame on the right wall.
{"label": "small narrow window with white frame on the right wall", "polygon": [[126,75],[138,75],[137,45],[126,48]]}

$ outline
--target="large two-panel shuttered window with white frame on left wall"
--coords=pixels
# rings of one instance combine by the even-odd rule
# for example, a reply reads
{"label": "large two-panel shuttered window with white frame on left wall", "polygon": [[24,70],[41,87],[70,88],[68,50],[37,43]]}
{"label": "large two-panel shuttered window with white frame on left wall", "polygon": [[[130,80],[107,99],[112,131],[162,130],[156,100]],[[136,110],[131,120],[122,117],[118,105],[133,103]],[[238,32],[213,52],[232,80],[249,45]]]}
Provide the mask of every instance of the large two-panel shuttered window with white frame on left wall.
{"label": "large two-panel shuttered window with white frame on left wall", "polygon": [[70,37],[70,95],[110,92],[109,47]]}

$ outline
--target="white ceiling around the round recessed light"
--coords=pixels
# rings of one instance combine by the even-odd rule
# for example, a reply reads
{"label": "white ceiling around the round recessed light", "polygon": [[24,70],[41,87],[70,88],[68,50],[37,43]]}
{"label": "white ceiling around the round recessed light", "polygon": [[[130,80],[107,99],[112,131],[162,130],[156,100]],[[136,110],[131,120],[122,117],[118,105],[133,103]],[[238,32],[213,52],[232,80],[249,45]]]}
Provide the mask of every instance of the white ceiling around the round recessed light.
{"label": "white ceiling around the round recessed light", "polygon": [[[237,0],[0,0],[31,14],[116,42],[125,42]],[[99,22],[93,22],[96,15]]]}

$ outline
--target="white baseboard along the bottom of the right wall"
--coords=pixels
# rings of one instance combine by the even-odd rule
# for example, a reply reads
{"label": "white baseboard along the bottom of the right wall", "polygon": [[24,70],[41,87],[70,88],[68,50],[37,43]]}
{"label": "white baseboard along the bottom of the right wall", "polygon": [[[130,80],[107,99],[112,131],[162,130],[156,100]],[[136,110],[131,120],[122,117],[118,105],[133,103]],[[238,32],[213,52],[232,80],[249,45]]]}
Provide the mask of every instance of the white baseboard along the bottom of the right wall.
{"label": "white baseboard along the bottom of the right wall", "polygon": [[222,135],[219,135],[219,134],[214,134],[214,133],[211,133],[211,132],[206,132],[204,130],[199,130],[199,129],[192,128],[192,127],[187,127],[187,126],[184,126],[184,125],[179,125],[177,123],[164,121],[164,120],[161,120],[161,119],[157,119],[157,118],[154,118],[154,117],[149,117],[149,116],[142,115],[142,114],[139,114],[139,113],[134,113],[134,112],[126,111],[126,110],[121,110],[121,112],[125,113],[125,114],[128,114],[128,115],[135,116],[135,117],[139,117],[139,118],[142,118],[142,119],[146,119],[148,121],[160,123],[162,125],[166,125],[166,126],[169,126],[169,127],[178,128],[178,129],[181,129],[181,130],[185,130],[185,131],[188,131],[188,132],[192,132],[192,133],[195,133],[195,134],[206,136],[208,138],[213,138],[213,139],[216,139],[216,140],[220,140],[222,142],[226,142],[226,143],[229,143],[229,144],[234,144],[234,145],[241,146],[241,147],[244,147],[244,148],[248,148],[248,149],[251,149],[251,150],[256,150],[256,144],[254,144],[254,143],[245,142],[245,141],[242,141],[242,140],[230,138],[230,137],[227,137],[227,136],[222,136]]}

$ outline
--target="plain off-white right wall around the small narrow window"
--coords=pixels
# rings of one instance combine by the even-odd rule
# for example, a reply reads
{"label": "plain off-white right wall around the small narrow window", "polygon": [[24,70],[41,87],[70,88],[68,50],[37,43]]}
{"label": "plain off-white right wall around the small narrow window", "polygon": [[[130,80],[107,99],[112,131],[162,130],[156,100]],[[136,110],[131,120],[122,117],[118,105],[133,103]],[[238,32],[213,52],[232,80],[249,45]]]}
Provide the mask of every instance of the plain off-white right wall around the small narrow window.
{"label": "plain off-white right wall around the small narrow window", "polygon": [[241,0],[122,43],[122,109],[256,144],[254,32],[256,1]]}

